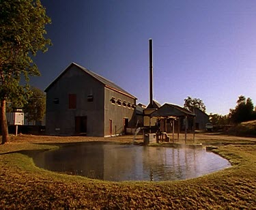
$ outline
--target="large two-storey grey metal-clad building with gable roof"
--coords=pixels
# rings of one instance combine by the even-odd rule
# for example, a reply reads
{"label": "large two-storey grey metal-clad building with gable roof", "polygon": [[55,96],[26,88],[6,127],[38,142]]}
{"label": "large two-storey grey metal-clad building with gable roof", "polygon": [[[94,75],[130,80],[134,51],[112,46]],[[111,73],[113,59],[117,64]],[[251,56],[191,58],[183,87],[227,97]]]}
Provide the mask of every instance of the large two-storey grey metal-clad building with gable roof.
{"label": "large two-storey grey metal-clad building with gable roof", "polygon": [[111,136],[135,125],[137,98],[71,63],[46,91],[46,133]]}

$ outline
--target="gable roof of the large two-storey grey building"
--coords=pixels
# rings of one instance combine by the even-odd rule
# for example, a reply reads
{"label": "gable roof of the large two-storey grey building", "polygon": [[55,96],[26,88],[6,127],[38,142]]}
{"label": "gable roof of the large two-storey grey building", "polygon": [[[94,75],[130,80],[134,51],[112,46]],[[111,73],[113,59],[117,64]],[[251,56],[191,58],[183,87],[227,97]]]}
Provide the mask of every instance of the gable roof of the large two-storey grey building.
{"label": "gable roof of the large two-storey grey building", "polygon": [[135,97],[134,95],[128,93],[127,91],[125,91],[124,89],[119,87],[118,85],[115,85],[114,82],[111,82],[110,80],[107,80],[103,76],[100,76],[94,72],[91,72],[90,70],[87,70],[87,68],[83,67],[82,65],[79,65],[74,62],[70,63],[70,65],[68,67],[66,67],[66,70],[63,70],[63,72],[61,72],[61,74],[59,74],[59,76],[57,76],[57,78],[55,78],[55,80],[53,80],[53,82],[51,82],[51,84],[48,85],[48,87],[46,87],[46,89],[44,91],[47,92],[48,89],[50,89],[55,84],[55,82],[57,82],[57,80],[59,80],[59,78],[61,78],[61,76],[63,76],[63,74],[65,74],[68,70],[70,70],[70,67],[72,67],[73,65],[75,65],[76,67],[79,67],[80,70],[82,70],[83,72],[89,74],[90,76],[92,76],[93,78],[95,78],[96,80],[101,82],[105,87],[107,87],[109,89],[113,89],[114,91],[117,91],[124,95],[128,95],[129,97],[132,97],[134,99],[137,99],[137,97]]}

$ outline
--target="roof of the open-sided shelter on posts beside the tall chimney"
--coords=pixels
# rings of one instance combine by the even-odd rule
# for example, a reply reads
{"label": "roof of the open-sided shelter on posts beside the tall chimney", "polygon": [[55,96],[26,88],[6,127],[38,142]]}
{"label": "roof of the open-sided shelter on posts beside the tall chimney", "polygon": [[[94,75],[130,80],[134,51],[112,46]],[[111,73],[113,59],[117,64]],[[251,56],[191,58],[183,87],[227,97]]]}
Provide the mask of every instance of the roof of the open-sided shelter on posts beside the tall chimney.
{"label": "roof of the open-sided shelter on posts beside the tall chimney", "polygon": [[164,104],[158,110],[154,111],[151,114],[151,117],[183,117],[190,116],[193,117],[195,114],[183,108],[181,106],[177,106],[175,104]]}

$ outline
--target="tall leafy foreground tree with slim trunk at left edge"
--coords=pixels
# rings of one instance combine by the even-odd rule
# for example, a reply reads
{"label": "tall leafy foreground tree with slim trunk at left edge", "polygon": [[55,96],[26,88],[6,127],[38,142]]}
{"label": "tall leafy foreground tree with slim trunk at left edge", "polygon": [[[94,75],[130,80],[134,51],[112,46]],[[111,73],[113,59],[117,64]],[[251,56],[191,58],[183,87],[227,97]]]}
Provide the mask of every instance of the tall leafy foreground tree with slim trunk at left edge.
{"label": "tall leafy foreground tree with slim trunk at left edge", "polygon": [[[46,52],[45,25],[51,23],[40,0],[0,1],[0,121],[2,143],[8,142],[6,102],[14,99],[22,105],[29,89],[29,76],[39,76],[33,62],[38,50]],[[20,77],[25,84],[20,84]]]}

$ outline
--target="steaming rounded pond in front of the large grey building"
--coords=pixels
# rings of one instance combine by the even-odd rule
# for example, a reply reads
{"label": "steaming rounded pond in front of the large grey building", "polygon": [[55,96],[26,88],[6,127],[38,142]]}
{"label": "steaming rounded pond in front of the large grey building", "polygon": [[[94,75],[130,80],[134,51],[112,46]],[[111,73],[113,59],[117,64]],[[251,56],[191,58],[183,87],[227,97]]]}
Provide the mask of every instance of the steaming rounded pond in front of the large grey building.
{"label": "steaming rounded pond in front of the large grey building", "polygon": [[199,177],[230,163],[205,149],[85,142],[32,155],[35,165],[109,181],[167,181]]}

